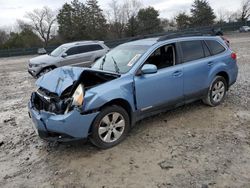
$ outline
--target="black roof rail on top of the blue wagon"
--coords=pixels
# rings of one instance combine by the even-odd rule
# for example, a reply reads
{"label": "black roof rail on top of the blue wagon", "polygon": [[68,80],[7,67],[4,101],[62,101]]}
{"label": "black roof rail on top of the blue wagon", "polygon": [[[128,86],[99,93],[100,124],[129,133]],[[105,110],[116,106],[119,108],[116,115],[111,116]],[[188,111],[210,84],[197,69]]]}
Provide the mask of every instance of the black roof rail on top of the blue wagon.
{"label": "black roof rail on top of the blue wagon", "polygon": [[178,38],[178,37],[194,37],[194,36],[214,36],[212,32],[200,32],[200,31],[192,31],[192,32],[177,32],[177,33],[169,33],[167,35],[161,36],[157,41],[164,41],[168,39]]}

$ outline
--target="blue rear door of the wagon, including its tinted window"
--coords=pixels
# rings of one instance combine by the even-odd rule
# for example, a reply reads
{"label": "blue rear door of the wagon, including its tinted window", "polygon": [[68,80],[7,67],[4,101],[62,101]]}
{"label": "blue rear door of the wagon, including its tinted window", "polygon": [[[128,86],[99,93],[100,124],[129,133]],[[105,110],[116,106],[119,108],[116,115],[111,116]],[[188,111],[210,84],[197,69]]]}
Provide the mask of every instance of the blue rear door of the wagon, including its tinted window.
{"label": "blue rear door of the wagon, including its tinted window", "polygon": [[205,95],[208,89],[208,74],[213,66],[207,58],[210,52],[203,40],[182,41],[184,98],[190,100]]}

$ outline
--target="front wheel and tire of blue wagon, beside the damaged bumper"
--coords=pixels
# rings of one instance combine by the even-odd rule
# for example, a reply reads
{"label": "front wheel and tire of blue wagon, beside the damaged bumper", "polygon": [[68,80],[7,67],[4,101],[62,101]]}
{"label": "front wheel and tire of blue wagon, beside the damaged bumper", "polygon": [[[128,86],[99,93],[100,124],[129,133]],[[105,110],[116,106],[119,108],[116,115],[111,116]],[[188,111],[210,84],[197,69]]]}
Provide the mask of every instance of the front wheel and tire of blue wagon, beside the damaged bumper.
{"label": "front wheel and tire of blue wagon, beside the damaged bumper", "polygon": [[111,148],[124,140],[129,129],[130,121],[126,110],[120,106],[109,106],[94,120],[90,141],[99,148]]}

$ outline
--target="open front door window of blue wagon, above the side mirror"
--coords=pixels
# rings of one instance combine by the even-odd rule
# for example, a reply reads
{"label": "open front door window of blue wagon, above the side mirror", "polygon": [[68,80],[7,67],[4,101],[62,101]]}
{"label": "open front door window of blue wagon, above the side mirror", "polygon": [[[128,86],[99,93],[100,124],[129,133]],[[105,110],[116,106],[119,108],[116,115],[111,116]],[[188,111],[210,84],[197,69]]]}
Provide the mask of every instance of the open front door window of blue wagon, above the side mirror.
{"label": "open front door window of blue wagon, above the side mirror", "polygon": [[156,49],[146,60],[146,64],[153,64],[157,69],[163,69],[175,65],[176,50],[174,44],[168,44]]}

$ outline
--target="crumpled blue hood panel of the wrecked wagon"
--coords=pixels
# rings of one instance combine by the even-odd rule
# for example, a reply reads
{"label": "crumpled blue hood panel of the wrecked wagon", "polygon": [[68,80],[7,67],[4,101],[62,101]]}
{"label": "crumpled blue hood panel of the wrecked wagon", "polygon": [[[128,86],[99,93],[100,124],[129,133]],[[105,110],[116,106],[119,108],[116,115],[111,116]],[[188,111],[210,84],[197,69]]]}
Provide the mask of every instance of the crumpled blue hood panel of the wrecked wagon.
{"label": "crumpled blue hood panel of the wrecked wagon", "polygon": [[36,85],[60,96],[66,88],[79,78],[85,69],[87,68],[70,66],[56,68],[40,77],[36,81]]}

